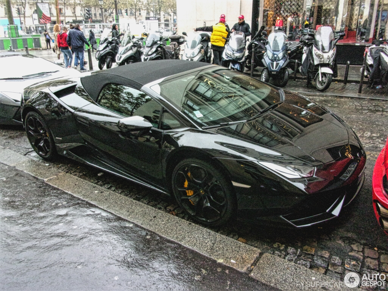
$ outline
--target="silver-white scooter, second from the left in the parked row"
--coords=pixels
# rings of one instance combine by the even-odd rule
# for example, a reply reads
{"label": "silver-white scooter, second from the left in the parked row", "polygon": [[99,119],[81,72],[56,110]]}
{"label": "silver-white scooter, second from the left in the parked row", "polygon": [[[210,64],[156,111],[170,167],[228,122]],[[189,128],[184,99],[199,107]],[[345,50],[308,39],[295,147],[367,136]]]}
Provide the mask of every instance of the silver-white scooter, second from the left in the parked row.
{"label": "silver-white scooter, second from the left in the parked row", "polygon": [[125,64],[132,64],[134,62],[141,62],[142,56],[142,40],[137,40],[135,36],[130,35],[130,31],[127,30],[121,40],[121,46],[116,55],[116,63],[121,66]]}

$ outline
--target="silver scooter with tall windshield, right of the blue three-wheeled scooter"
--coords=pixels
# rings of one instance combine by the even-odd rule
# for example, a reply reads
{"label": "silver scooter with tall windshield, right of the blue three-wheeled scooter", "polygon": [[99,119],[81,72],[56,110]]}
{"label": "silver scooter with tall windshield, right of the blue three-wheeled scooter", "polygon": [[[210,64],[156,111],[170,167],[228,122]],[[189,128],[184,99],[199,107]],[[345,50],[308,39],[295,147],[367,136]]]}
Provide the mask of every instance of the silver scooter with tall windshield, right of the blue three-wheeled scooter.
{"label": "silver scooter with tall windshield, right of the blue three-wheeled scooter", "polygon": [[337,76],[336,43],[344,35],[339,33],[334,38],[333,29],[330,26],[320,26],[312,45],[312,33],[308,33],[310,38],[303,38],[307,47],[302,56],[301,74],[307,76],[307,83],[315,80],[315,86],[319,91],[327,90],[333,76],[334,78]]}

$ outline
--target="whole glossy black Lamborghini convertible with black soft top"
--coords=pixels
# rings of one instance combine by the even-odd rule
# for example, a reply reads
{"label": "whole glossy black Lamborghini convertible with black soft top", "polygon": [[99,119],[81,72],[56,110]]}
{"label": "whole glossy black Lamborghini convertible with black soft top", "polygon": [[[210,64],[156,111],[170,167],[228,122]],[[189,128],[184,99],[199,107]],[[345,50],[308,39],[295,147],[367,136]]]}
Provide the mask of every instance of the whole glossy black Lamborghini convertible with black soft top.
{"label": "whole glossy black Lamborghini convertible with black soft top", "polygon": [[338,116],[221,66],[139,62],[27,87],[35,151],[163,193],[205,225],[232,216],[305,227],[338,217],[365,152]]}

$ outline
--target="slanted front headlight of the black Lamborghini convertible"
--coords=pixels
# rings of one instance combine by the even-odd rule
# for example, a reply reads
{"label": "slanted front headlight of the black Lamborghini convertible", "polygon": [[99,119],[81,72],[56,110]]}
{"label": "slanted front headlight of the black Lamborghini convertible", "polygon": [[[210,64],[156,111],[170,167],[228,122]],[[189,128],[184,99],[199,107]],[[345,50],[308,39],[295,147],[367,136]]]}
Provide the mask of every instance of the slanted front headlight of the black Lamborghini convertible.
{"label": "slanted front headlight of the black Lamborghini convertible", "polygon": [[262,166],[265,166],[265,168],[273,170],[276,173],[279,173],[280,175],[289,179],[312,177],[315,172],[315,168],[313,166],[275,164],[268,162],[258,163]]}

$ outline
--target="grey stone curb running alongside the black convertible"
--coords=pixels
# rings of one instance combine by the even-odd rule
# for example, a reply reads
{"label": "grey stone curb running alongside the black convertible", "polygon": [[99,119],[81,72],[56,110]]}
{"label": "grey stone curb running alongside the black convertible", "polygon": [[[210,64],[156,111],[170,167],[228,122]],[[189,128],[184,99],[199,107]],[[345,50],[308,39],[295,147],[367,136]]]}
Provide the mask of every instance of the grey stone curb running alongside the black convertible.
{"label": "grey stone curb running alongside the black convertible", "polygon": [[[331,277],[277,256],[265,253],[260,257],[261,251],[255,247],[64,173],[50,166],[49,163],[34,161],[1,146],[0,163],[14,166],[18,170],[44,180],[49,185],[88,201],[166,239],[193,249],[218,263],[235,268],[240,272],[250,272],[252,278],[282,291],[307,290],[297,285],[296,282],[319,281],[339,284],[339,281]],[[257,262],[256,265],[255,262]],[[345,289],[329,287],[327,290]]]}

